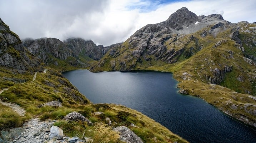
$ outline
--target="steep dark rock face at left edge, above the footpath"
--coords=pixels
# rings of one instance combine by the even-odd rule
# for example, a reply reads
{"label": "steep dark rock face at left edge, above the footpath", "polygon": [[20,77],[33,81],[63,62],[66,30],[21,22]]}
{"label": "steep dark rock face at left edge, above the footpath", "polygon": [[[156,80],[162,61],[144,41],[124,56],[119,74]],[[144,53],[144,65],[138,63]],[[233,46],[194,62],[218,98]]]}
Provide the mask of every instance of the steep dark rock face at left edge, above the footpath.
{"label": "steep dark rock face at left edge, above the footpath", "polygon": [[1,19],[0,65],[18,70],[32,70],[40,65],[40,61],[24,48],[20,38]]}

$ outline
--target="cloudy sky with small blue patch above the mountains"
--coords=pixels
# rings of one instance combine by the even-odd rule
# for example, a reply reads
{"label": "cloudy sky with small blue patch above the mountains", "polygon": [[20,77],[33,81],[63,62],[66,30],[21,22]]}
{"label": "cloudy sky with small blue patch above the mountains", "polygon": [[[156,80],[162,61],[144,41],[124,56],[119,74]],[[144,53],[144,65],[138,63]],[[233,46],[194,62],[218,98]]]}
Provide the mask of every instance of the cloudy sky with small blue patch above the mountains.
{"label": "cloudy sky with small blue patch above the mountains", "polygon": [[181,7],[232,23],[256,21],[256,0],[0,0],[0,18],[20,39],[80,37],[108,46]]}

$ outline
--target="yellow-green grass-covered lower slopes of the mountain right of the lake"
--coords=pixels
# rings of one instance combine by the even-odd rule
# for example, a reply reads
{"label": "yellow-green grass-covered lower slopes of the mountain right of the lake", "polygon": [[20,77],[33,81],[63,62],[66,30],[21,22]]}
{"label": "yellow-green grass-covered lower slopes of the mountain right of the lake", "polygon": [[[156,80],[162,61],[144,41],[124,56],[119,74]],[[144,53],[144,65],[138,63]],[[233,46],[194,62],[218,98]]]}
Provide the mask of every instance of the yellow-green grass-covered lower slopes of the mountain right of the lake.
{"label": "yellow-green grass-covered lower slopes of the mountain right of the lake", "polygon": [[[126,66],[128,67],[132,64],[135,65],[130,70],[172,72],[174,73],[174,78],[180,81],[179,88],[187,90],[190,95],[205,99],[211,105],[246,124],[256,126],[256,115],[254,113],[256,111],[256,101],[250,97],[251,95],[245,94],[247,90],[252,95],[256,95],[256,66],[244,60],[244,57],[251,54],[255,56],[256,53],[252,40],[248,40],[249,38],[256,40],[254,32],[249,28],[255,26],[256,24],[240,24],[240,27],[242,27],[240,28],[240,39],[242,40],[242,46],[245,48],[244,52],[230,38],[232,27],[217,35],[208,33],[206,37],[201,37],[200,34],[203,31],[209,31],[209,28],[205,28],[193,33],[194,38],[192,40],[188,40],[191,35],[185,35],[178,38],[177,42],[174,43],[171,42],[173,39],[166,41],[167,49],[179,49],[179,47],[185,47],[186,49],[184,53],[176,57],[177,62],[174,64],[166,64],[165,62],[154,60],[154,57],[152,57],[153,60],[151,61],[145,61],[142,58],[142,63],[129,61],[125,57],[129,57],[129,53],[134,49],[129,49],[129,44],[126,41],[123,44],[124,48],[116,50],[116,53],[118,53],[116,56],[106,54],[100,60],[100,64],[92,71],[121,71],[120,67],[116,66],[113,69],[110,64],[115,61],[116,65],[120,65],[121,61],[126,61]],[[251,32],[244,32],[245,30],[250,30]],[[217,42],[223,39],[224,41],[219,46],[214,47]],[[191,53],[189,51],[190,47],[194,47],[192,56],[187,54]],[[199,48],[202,48],[202,50],[197,50]],[[225,71],[225,66],[231,67],[232,70],[224,74],[220,83],[221,86],[210,85],[209,77],[214,77],[212,71],[215,68]],[[189,74],[186,80],[182,75],[184,72]],[[243,81],[237,80],[239,76],[243,77]]]}

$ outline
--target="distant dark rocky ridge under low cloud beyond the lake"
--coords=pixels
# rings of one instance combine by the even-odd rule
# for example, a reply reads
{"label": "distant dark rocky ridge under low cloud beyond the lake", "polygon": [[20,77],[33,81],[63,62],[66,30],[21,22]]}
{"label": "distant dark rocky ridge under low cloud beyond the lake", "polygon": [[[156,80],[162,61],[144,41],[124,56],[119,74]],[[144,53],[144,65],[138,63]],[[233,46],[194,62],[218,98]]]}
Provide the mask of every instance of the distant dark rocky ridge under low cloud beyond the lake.
{"label": "distant dark rocky ridge under low cloud beyond the lake", "polygon": [[69,38],[61,42],[56,38],[27,38],[22,44],[46,65],[59,71],[89,67],[103,57],[110,46],[96,46],[92,40]]}

